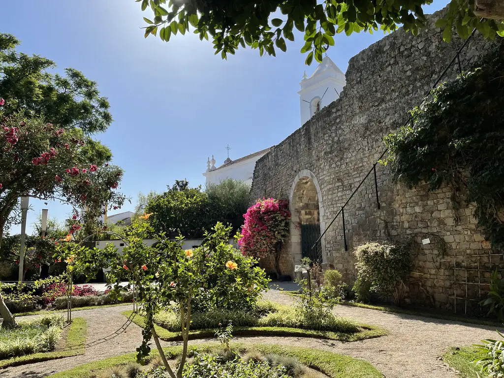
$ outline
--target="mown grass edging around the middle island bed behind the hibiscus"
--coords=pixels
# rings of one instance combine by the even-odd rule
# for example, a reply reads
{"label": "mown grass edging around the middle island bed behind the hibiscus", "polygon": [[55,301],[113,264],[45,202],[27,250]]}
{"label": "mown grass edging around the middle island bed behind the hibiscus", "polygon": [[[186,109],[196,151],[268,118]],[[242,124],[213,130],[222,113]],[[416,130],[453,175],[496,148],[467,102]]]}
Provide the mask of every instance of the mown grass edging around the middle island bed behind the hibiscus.
{"label": "mown grass edging around the middle island bed behind the hibiscus", "polygon": [[[131,317],[133,311],[122,311],[121,313],[126,317]],[[133,323],[142,328],[145,326],[144,317],[139,314],[135,314],[131,320]],[[356,333],[314,331],[288,327],[233,327],[233,336],[293,336],[350,342],[388,335],[387,330],[384,328],[370,326],[367,324],[360,324],[359,327],[361,327],[362,330]],[[154,326],[154,329],[161,340],[182,340],[182,335],[179,332],[171,332],[166,328],[157,325]],[[189,332],[189,340],[204,339],[208,337],[215,337],[215,329],[192,330]]]}

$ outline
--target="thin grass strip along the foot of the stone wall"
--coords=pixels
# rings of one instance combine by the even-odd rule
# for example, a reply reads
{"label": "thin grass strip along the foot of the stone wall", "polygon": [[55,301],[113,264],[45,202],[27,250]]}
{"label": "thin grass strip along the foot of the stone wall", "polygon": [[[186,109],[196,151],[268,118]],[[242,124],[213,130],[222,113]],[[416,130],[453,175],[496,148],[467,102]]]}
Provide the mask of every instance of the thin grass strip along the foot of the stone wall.
{"label": "thin grass strip along the foot of the stone wall", "polygon": [[[282,290],[283,293],[293,296],[293,297],[300,297],[301,294],[296,291],[289,291],[289,290]],[[482,320],[479,318],[470,318],[470,317],[465,317],[461,315],[456,315],[456,314],[444,314],[444,313],[437,313],[437,312],[429,312],[425,310],[415,310],[415,309],[407,309],[407,308],[401,308],[401,307],[396,307],[392,305],[375,305],[375,304],[370,304],[370,303],[360,303],[360,302],[350,302],[347,300],[342,300],[339,303],[340,305],[344,306],[352,306],[352,307],[360,307],[360,308],[368,308],[371,310],[377,310],[377,311],[384,311],[384,312],[392,312],[392,313],[403,313],[405,315],[411,315],[415,317],[423,317],[423,318],[431,318],[431,319],[438,319],[438,320],[447,320],[450,322],[461,322],[461,323],[468,323],[468,324],[475,324],[479,326],[489,326],[489,327],[499,327],[502,328],[502,323],[499,323],[497,321],[491,321],[491,320]]]}

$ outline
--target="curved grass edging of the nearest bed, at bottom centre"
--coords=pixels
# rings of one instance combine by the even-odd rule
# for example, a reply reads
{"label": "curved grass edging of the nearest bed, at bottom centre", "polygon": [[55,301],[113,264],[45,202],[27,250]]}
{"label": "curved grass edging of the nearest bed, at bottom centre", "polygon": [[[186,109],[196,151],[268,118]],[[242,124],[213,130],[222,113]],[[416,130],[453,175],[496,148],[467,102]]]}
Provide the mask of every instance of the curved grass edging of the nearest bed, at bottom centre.
{"label": "curved grass edging of the nearest bed, at bottom centre", "polygon": [[[202,352],[212,352],[218,349],[220,345],[215,343],[191,345],[190,349],[198,348]],[[384,375],[369,362],[329,352],[320,349],[311,349],[304,347],[289,347],[273,344],[243,344],[231,343],[233,349],[241,353],[251,350],[257,350],[264,354],[275,353],[290,357],[295,357],[299,362],[313,369],[319,370],[329,378],[384,378]],[[172,346],[163,348],[167,357],[177,357],[182,350],[181,346]],[[157,354],[157,350],[153,353]],[[74,367],[73,369],[61,371],[49,378],[88,378],[93,371],[112,367],[114,365],[127,363],[136,360],[136,353],[124,354],[121,356],[109,357],[103,360],[89,362],[84,365]]]}

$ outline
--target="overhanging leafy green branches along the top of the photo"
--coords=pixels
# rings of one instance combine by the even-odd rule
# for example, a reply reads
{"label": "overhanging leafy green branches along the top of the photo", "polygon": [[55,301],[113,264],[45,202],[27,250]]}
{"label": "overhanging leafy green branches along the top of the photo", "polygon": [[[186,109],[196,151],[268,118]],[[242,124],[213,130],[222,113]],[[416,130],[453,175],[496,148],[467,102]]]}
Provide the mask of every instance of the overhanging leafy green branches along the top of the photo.
{"label": "overhanging leafy green branches along the top of the photo", "polygon": [[[200,39],[213,39],[215,53],[234,54],[245,47],[258,49],[260,55],[275,56],[275,49],[287,50],[294,41],[294,27],[304,33],[306,64],[334,45],[333,36],[345,32],[382,30],[391,32],[401,25],[416,35],[425,26],[423,7],[432,0],[136,0],[142,10],[150,8],[153,17],[144,17],[150,34],[168,42],[173,34],[193,29]],[[484,17],[485,19],[481,20]],[[477,28],[487,38],[504,36],[504,1],[451,0],[445,18],[437,26],[445,29],[443,38],[450,41],[455,27],[462,38]]]}

